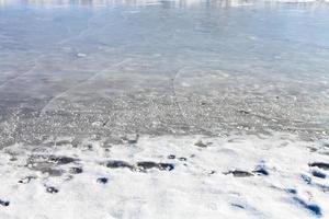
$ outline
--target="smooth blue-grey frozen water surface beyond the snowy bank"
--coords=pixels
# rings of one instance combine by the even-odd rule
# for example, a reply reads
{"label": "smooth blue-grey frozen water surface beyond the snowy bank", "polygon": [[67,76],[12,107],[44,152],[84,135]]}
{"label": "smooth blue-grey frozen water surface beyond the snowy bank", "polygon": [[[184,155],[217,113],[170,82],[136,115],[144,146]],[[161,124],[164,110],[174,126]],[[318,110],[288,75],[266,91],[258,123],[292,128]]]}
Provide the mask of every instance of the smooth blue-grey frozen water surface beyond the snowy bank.
{"label": "smooth blue-grey frozen water surface beyond the snowy bank", "polygon": [[328,130],[327,3],[1,3],[1,145]]}

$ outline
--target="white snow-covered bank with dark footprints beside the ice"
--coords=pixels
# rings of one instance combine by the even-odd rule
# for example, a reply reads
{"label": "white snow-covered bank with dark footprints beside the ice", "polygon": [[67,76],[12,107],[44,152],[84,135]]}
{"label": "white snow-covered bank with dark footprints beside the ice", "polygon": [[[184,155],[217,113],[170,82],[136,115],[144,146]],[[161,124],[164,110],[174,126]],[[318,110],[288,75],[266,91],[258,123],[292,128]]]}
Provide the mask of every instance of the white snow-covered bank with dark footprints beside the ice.
{"label": "white snow-covered bank with dark footprints beside the ice", "polygon": [[[33,150],[32,150],[33,148]],[[124,136],[15,145],[0,158],[0,218],[328,217],[328,141]],[[7,203],[8,201],[8,203]]]}

